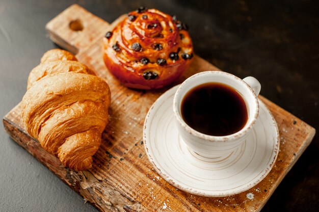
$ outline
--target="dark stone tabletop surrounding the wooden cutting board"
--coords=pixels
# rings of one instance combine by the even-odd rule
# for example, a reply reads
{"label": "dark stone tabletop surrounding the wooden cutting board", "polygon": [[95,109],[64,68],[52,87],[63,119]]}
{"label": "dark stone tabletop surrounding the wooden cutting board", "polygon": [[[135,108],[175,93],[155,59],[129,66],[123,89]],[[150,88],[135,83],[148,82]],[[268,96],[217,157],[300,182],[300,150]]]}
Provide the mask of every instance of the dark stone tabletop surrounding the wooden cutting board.
{"label": "dark stone tabletop surrounding the wooden cutting board", "polygon": [[[142,5],[177,15],[190,26],[196,54],[240,77],[255,76],[262,95],[318,129],[317,1],[1,0],[1,116],[21,100],[42,54],[56,47],[45,23],[73,3],[109,22]],[[0,211],[96,210],[0,127]],[[316,136],[262,211],[317,211],[318,152]]]}

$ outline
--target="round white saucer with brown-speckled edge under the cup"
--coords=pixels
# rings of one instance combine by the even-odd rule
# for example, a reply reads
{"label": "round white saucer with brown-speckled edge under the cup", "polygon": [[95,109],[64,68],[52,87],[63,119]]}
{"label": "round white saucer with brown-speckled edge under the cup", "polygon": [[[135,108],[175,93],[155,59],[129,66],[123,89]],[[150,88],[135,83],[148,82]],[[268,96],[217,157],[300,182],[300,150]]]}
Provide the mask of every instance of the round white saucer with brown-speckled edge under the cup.
{"label": "round white saucer with brown-speckled edge under the cup", "polygon": [[253,131],[240,148],[226,158],[205,158],[179,136],[173,113],[178,86],[159,97],[145,119],[143,139],[154,169],[178,189],[200,196],[230,196],[254,187],[270,172],[279,152],[277,123],[267,107],[259,101]]}

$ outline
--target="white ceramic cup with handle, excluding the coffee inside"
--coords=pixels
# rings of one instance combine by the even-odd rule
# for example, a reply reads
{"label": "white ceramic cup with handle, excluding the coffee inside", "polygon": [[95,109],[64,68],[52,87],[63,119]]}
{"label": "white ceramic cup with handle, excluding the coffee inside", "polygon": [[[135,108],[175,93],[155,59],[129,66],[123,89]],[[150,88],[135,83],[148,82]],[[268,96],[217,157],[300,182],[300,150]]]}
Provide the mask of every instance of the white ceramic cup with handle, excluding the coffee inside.
{"label": "white ceramic cup with handle, excluding the coffee inside", "polygon": [[[242,95],[248,110],[246,125],[237,133],[227,136],[209,136],[196,131],[182,119],[180,104],[192,88],[204,83],[223,83]],[[251,133],[259,112],[258,94],[261,86],[256,78],[248,76],[241,80],[235,75],[222,71],[204,71],[197,73],[185,80],[177,89],[173,100],[173,111],[176,125],[183,141],[191,150],[203,157],[227,157],[245,141]]]}

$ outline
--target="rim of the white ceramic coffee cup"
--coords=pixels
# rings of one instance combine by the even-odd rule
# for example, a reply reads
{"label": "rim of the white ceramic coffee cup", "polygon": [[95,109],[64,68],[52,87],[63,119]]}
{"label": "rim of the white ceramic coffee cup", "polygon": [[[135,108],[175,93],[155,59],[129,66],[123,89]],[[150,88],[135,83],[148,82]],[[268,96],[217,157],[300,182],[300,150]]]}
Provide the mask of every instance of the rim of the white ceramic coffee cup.
{"label": "rim of the white ceramic coffee cup", "polygon": [[[246,86],[246,88],[249,90],[249,92],[253,95],[253,97],[255,99],[256,107],[255,107],[254,113],[252,114],[253,115],[253,120],[249,124],[246,124],[241,130],[237,131],[234,134],[230,134],[230,135],[227,135],[227,136],[210,136],[210,135],[206,135],[206,134],[200,133],[199,131],[197,131],[197,130],[193,129],[192,127],[190,127],[182,119],[181,114],[179,113],[180,110],[178,110],[177,97],[178,97],[178,94],[181,92],[182,88],[185,86],[185,84],[187,84],[188,82],[192,81],[195,77],[197,77],[199,75],[202,75],[202,74],[228,75],[228,76],[233,77],[234,80],[242,82],[242,84],[244,86]],[[196,86],[198,86],[198,85],[196,85]],[[192,87],[192,88],[194,88],[194,87]],[[191,89],[189,89],[188,91],[190,91]],[[181,125],[185,130],[187,130],[188,133],[190,133],[191,135],[194,135],[195,137],[198,137],[198,138],[201,138],[201,139],[204,139],[204,140],[207,140],[207,141],[225,142],[225,141],[237,140],[237,139],[240,139],[240,138],[244,137],[245,135],[247,135],[247,133],[250,131],[250,129],[253,127],[253,125],[255,124],[255,122],[257,120],[257,117],[258,117],[258,114],[259,114],[259,102],[258,102],[258,98],[257,98],[255,92],[253,91],[253,89],[245,81],[243,81],[241,78],[239,78],[239,77],[237,77],[237,76],[235,76],[235,75],[233,75],[231,73],[224,72],[224,71],[202,71],[202,72],[199,72],[199,73],[196,73],[196,74],[190,76],[183,83],[180,84],[180,86],[178,87],[178,89],[177,89],[177,91],[175,92],[175,95],[174,95],[173,111],[174,111],[174,115],[175,115],[175,118],[176,118],[178,124]]]}

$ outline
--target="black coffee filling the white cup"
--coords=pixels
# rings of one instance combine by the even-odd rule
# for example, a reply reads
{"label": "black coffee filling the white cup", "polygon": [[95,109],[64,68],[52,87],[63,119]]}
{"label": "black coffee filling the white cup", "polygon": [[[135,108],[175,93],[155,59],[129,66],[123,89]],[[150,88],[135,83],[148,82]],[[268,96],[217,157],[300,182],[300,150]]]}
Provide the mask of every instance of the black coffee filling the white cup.
{"label": "black coffee filling the white cup", "polygon": [[244,98],[222,83],[205,83],[182,99],[181,115],[196,131],[210,136],[227,136],[241,130],[248,114]]}

